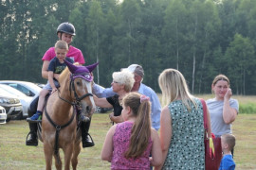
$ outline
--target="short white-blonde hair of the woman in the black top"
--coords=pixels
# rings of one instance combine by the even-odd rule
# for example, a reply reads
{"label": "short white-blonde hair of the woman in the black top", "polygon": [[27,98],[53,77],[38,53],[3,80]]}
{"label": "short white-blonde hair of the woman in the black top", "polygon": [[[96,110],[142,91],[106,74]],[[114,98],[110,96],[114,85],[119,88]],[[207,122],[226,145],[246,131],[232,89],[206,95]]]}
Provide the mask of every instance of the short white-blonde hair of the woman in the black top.
{"label": "short white-blonde hair of the woman in the black top", "polygon": [[124,85],[124,91],[130,92],[134,86],[135,78],[134,74],[129,71],[122,70],[121,72],[114,72],[112,74],[113,80],[119,84]]}

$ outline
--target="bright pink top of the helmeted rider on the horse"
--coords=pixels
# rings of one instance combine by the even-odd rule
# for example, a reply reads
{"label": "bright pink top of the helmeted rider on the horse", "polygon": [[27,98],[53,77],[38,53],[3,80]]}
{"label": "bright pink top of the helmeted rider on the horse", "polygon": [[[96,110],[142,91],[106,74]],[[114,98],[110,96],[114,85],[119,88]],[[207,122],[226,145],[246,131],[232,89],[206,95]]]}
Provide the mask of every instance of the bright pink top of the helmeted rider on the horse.
{"label": "bright pink top of the helmeted rider on the horse", "polygon": [[[55,57],[55,51],[54,51],[54,47],[50,47],[47,51],[46,51],[46,54],[44,55],[44,57],[42,58],[42,60],[51,60]],[[68,48],[68,52],[66,54],[66,57],[68,58],[71,58],[74,60],[74,62],[79,62],[80,64],[84,64],[85,61],[83,59],[83,56],[82,56],[82,52],[80,49],[72,46],[72,45],[69,45],[69,48]]]}

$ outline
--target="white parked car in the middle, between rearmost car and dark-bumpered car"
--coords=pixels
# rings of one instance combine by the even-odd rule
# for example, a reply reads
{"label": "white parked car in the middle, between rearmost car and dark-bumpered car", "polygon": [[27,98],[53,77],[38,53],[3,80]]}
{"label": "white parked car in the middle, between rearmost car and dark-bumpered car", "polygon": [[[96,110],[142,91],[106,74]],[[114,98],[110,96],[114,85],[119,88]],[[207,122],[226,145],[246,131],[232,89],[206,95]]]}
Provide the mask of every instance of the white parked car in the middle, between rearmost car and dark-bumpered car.
{"label": "white parked car in the middle, between rearmost car and dark-bumpered car", "polygon": [[30,102],[31,100],[33,99],[32,96],[27,96],[25,93],[22,93],[20,91],[18,91],[17,89],[14,89],[12,87],[10,87],[9,85],[7,84],[0,84],[0,89],[3,89],[9,93],[12,93],[13,95],[16,95],[17,98],[20,99],[20,102],[22,104],[22,107],[23,107],[23,112],[22,114],[17,117],[17,119],[23,119],[23,118],[26,118],[27,117],[27,109],[30,105]]}

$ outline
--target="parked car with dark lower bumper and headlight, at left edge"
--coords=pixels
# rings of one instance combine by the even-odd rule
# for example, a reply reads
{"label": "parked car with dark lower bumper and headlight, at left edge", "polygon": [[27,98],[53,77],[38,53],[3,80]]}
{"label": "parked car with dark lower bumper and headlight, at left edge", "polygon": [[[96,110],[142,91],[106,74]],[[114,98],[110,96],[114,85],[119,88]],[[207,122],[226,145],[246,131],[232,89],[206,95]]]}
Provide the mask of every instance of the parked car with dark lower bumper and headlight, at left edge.
{"label": "parked car with dark lower bumper and headlight, at left edge", "polygon": [[23,112],[20,100],[13,94],[0,89],[0,106],[7,112],[7,122]]}

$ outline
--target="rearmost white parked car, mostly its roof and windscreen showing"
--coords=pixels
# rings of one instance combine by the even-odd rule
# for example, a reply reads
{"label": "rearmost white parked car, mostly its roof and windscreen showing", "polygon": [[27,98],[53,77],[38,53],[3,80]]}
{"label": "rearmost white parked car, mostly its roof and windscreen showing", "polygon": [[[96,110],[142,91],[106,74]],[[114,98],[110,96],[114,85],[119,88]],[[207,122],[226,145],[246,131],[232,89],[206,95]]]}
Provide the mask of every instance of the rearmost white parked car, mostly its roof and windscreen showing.
{"label": "rearmost white parked car, mostly its roof and windscreen showing", "polygon": [[35,83],[27,82],[27,81],[15,81],[15,80],[1,80],[0,84],[7,84],[10,87],[25,93],[27,96],[35,96],[38,95],[42,88],[37,86]]}

